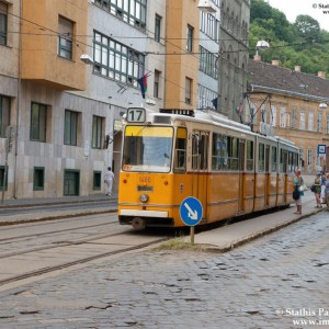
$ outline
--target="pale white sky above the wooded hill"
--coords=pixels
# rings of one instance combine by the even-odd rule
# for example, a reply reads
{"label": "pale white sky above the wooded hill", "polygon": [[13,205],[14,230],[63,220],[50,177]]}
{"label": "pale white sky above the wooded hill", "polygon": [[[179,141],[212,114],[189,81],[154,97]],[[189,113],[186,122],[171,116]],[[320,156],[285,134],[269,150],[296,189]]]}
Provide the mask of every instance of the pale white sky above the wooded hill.
{"label": "pale white sky above the wooded hill", "polygon": [[[322,0],[265,0],[272,8],[282,11],[286,19],[294,23],[297,15],[306,14],[320,24],[320,27],[329,32],[329,1]],[[321,8],[322,5],[322,8]],[[326,8],[327,7],[327,8]]]}

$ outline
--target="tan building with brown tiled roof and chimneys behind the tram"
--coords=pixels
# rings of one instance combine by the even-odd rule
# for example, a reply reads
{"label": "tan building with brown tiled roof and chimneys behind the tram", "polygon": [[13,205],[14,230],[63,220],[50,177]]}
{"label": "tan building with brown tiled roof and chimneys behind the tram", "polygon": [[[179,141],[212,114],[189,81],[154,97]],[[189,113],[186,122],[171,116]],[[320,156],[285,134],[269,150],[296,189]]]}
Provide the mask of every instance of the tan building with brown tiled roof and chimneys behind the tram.
{"label": "tan building with brown tiled roof and chimneys behind the tram", "polygon": [[316,76],[294,69],[250,60],[248,64],[248,99],[242,113],[254,132],[275,134],[292,140],[300,149],[300,166],[306,174],[327,170],[329,146],[329,80],[320,71]]}

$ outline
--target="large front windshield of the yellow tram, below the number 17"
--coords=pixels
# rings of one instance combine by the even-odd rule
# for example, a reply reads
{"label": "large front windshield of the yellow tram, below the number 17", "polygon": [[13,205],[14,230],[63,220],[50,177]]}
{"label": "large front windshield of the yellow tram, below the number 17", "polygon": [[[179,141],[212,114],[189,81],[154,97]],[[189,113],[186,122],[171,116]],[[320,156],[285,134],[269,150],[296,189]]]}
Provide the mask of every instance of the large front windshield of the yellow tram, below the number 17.
{"label": "large front windshield of the yellow tram, below the number 17", "polygon": [[172,127],[126,126],[122,168],[124,171],[169,172]]}

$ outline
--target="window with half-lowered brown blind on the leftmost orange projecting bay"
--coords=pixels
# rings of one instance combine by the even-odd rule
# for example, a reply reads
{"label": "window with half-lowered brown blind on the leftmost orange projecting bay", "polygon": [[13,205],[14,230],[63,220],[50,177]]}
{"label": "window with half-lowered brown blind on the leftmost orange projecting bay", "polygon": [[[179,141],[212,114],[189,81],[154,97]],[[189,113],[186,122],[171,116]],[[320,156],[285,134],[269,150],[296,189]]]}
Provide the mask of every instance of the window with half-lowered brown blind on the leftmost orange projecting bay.
{"label": "window with half-lowered brown blind on the leftmost orange projecting bay", "polygon": [[58,56],[72,59],[73,23],[58,18]]}

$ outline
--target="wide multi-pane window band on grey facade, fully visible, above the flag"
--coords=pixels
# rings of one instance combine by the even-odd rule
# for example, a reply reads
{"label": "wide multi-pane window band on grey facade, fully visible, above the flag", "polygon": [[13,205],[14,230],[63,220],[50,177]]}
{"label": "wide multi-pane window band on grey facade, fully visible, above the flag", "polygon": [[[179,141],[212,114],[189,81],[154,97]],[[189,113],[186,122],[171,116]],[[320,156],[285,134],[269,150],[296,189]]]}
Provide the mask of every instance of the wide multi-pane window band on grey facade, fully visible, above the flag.
{"label": "wide multi-pane window band on grey facade, fully visible, above the flag", "polygon": [[144,76],[144,55],[94,32],[93,57],[94,72],[138,87],[137,79]]}

